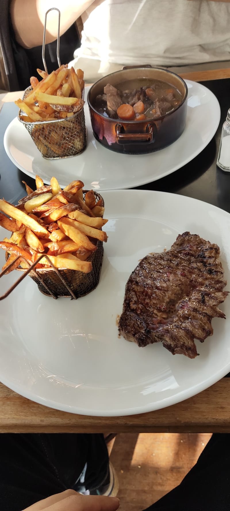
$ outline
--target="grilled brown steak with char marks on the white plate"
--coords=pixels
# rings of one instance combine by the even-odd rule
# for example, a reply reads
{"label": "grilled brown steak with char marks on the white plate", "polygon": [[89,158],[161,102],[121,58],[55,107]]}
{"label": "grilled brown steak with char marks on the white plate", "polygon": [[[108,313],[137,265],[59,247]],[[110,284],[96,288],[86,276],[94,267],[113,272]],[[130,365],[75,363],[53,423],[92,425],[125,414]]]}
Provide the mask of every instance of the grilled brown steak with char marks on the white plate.
{"label": "grilled brown steak with char marks on the white plate", "polygon": [[162,342],[173,355],[197,355],[194,339],[212,335],[228,291],[218,245],[186,232],[170,250],[143,258],[126,284],[119,333],[138,346]]}

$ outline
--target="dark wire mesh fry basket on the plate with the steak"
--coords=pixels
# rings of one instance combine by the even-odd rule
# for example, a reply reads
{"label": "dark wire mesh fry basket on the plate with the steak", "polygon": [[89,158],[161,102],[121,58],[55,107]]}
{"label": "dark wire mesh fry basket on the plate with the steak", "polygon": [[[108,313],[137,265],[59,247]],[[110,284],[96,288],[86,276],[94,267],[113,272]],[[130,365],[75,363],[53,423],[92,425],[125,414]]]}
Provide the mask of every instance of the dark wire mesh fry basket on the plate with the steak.
{"label": "dark wire mesh fry basket on the plate with the steak", "polygon": [[[87,193],[87,190],[83,191],[83,196],[85,193]],[[101,199],[102,206],[104,206],[104,201],[100,194],[97,192],[94,192],[94,194],[96,204],[99,199]],[[3,296],[0,296],[0,300],[6,298],[26,275],[29,275],[33,281],[36,282],[39,291],[46,296],[52,296],[53,298],[63,296],[70,297],[71,299],[77,299],[81,296],[87,295],[93,291],[99,283],[103,261],[103,242],[99,240],[94,241],[97,242],[97,248],[87,259],[87,261],[91,261],[93,267],[90,273],[83,273],[81,271],[65,268],[57,269],[53,266],[51,261],[48,260],[48,258],[47,263],[50,264],[49,268],[35,269],[36,264],[38,264],[40,260],[38,259],[34,264],[32,264],[31,268],[20,268],[20,265],[16,268],[17,271],[23,272],[23,275],[12,286],[12,288],[10,288]],[[46,257],[46,254],[41,254],[41,258],[44,257]],[[6,261],[8,258],[9,254],[6,252]],[[14,262],[12,264],[14,264]],[[7,269],[0,274],[0,278],[6,273],[6,271]]]}

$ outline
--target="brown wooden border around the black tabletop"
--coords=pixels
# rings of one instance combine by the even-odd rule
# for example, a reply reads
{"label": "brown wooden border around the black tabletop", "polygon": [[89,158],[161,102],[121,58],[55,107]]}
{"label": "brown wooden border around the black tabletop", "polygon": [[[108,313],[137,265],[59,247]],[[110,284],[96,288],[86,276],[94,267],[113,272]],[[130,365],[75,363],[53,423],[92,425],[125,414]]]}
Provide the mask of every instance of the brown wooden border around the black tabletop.
{"label": "brown wooden border around the black tabletop", "polygon": [[[230,69],[191,71],[181,73],[181,76],[193,81],[218,80],[230,78]],[[12,102],[20,95],[20,92],[8,93],[1,99],[3,103]],[[2,158],[4,157],[5,155],[2,153]],[[216,172],[215,169],[214,171]],[[165,186],[167,188],[167,180],[171,187],[169,176],[164,178],[164,189]],[[159,189],[161,189],[161,181],[163,180],[157,182]],[[3,175],[1,183],[4,190]],[[194,185],[192,190],[194,194],[196,192]],[[179,193],[184,193],[183,188]],[[187,195],[186,187],[184,194]],[[197,198],[202,199],[202,197]],[[227,201],[229,202],[229,198]],[[220,204],[217,202],[216,205]],[[224,207],[227,211],[225,204],[221,204],[220,207]],[[0,432],[90,433],[108,430],[114,432],[230,432],[229,394],[230,378],[223,378],[193,398],[162,410],[124,417],[90,417],[61,412],[39,405],[19,396],[0,383]]]}

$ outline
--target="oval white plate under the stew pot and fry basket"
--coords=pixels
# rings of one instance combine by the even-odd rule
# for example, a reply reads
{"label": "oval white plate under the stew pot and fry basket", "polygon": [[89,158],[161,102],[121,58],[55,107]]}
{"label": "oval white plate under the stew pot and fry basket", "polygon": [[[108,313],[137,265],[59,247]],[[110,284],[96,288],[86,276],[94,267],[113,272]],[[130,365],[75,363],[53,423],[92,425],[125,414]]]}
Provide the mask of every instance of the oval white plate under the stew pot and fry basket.
{"label": "oval white plate under the stew pot and fry basket", "polygon": [[93,136],[87,103],[85,121],[88,145],[82,154],[72,158],[46,160],[17,118],[5,132],[4,147],[13,164],[22,172],[34,178],[39,174],[45,183],[49,183],[50,177],[55,176],[62,187],[77,178],[84,182],[85,188],[94,190],[133,188],[155,181],[180,169],[199,154],[218,128],[220,106],[216,97],[204,85],[188,80],[187,85],[188,114],[185,131],[174,144],[161,151],[142,155],[109,151]]}

